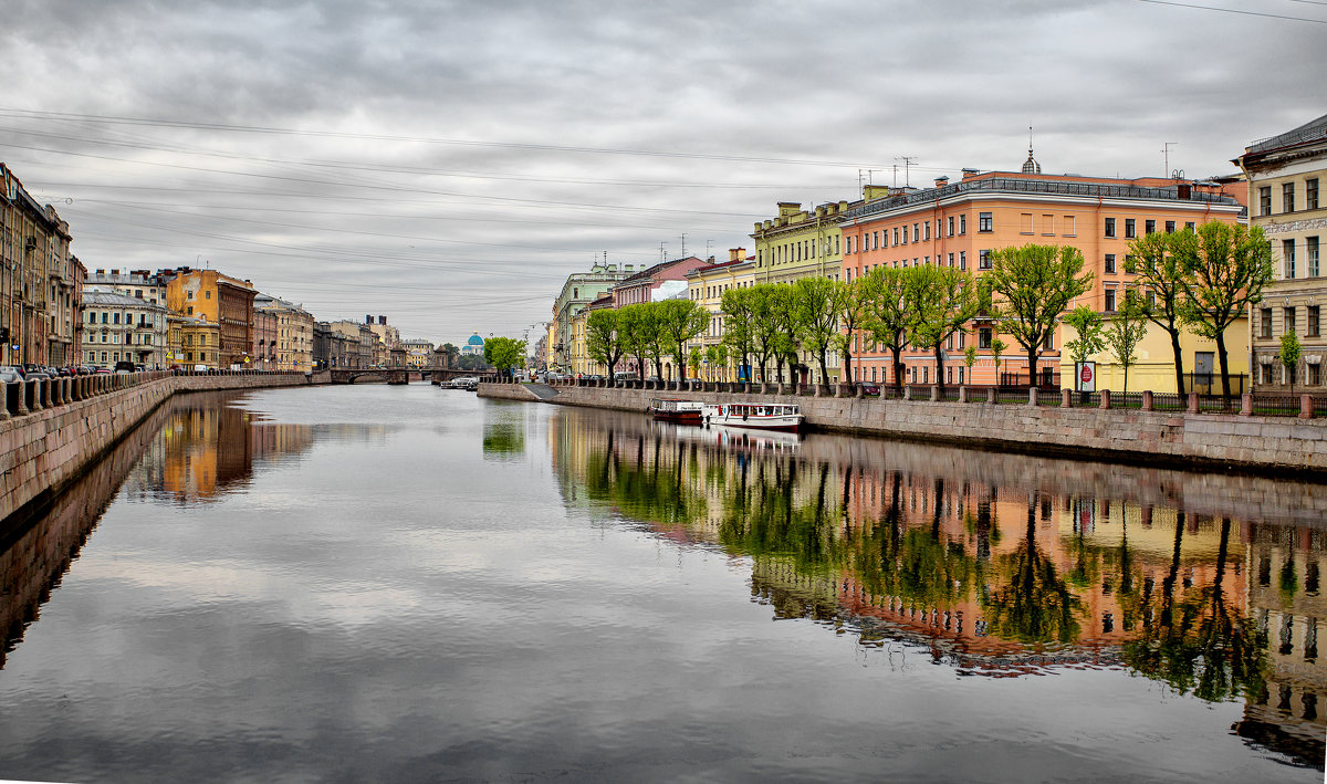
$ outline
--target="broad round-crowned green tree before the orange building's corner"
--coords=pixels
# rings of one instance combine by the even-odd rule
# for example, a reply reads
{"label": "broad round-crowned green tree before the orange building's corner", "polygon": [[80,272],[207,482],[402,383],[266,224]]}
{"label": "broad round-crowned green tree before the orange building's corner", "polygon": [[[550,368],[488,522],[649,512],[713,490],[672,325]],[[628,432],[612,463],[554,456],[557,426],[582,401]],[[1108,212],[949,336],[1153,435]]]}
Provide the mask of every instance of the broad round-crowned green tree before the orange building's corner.
{"label": "broad round-crowned green tree before the orange building's corner", "polygon": [[1036,383],[1036,358],[1074,298],[1092,287],[1083,271],[1083,252],[1063,245],[1027,244],[991,251],[991,269],[982,276],[999,294],[994,304],[1001,332],[1027,352],[1028,386]]}

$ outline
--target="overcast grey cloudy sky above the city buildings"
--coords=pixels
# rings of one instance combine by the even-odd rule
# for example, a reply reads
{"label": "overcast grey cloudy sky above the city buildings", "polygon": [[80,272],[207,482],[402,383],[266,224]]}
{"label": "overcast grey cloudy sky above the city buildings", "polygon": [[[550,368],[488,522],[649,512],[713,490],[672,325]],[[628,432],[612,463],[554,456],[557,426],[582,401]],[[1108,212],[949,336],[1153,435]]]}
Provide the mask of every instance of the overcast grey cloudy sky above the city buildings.
{"label": "overcast grey cloudy sky above the city buildings", "polygon": [[[90,269],[529,337],[573,272],[963,167],[1230,174],[1327,113],[1327,0],[5,0],[0,161]],[[1162,150],[1168,149],[1168,158]]]}

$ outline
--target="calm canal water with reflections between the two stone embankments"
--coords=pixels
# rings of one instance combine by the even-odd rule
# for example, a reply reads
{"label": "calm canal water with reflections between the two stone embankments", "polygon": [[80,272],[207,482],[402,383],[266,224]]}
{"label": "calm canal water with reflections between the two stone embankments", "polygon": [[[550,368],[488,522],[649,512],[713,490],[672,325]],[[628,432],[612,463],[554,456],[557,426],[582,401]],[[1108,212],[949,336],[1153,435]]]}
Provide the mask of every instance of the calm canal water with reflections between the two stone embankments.
{"label": "calm canal water with reflections between the two stone embankments", "polygon": [[1324,491],[176,397],[5,523],[0,779],[1322,781]]}

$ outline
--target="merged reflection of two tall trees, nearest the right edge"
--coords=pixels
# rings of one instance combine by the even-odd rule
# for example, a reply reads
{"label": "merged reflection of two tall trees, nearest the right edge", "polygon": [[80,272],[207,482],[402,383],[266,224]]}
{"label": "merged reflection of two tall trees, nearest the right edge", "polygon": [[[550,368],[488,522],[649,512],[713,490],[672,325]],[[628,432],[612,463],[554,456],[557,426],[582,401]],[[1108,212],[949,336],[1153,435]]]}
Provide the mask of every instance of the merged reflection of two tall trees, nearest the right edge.
{"label": "merged reflection of two tall trees, nearest the right edge", "polygon": [[1145,623],[1143,635],[1124,645],[1123,659],[1180,694],[1192,692],[1212,702],[1241,695],[1255,702],[1265,699],[1266,641],[1258,638],[1254,623],[1242,616],[1241,609],[1226,601],[1222,586],[1230,519],[1221,521],[1221,544],[1212,585],[1176,590],[1182,539],[1181,512],[1161,596],[1145,592],[1144,605],[1154,610],[1154,622]]}

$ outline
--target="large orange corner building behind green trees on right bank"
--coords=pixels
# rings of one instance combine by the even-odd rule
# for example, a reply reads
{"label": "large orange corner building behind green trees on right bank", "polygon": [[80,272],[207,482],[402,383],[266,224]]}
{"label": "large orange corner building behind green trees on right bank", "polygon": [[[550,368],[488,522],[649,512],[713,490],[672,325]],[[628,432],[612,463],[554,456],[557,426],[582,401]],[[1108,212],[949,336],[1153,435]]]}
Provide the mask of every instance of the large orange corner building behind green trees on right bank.
{"label": "large orange corner building behind green trees on right bank", "polygon": [[[1018,172],[965,170],[958,183],[941,178],[932,188],[893,194],[848,210],[841,219],[844,280],[859,279],[877,267],[918,264],[966,269],[981,277],[993,267],[993,251],[1028,243],[1072,245],[1083,252],[1092,287],[1070,309],[1088,305],[1109,317],[1124,301],[1125,289],[1133,285],[1135,276],[1127,264],[1131,240],[1158,231],[1182,231],[1208,220],[1233,223],[1242,210],[1220,184],[1043,175],[1030,150]],[[995,338],[1007,346],[998,373],[990,350]],[[877,350],[864,334],[853,340],[856,381],[893,383],[892,353],[884,346]],[[1002,336],[991,320],[978,317],[950,337],[938,369],[933,352],[905,350],[902,381],[1026,385],[1035,377],[1042,385],[1054,385],[1060,374],[1063,340],[1063,334],[1054,336],[1040,348],[1038,366],[1028,369],[1026,349],[1013,337]],[[971,369],[963,358],[967,346],[974,346],[978,356]],[[1206,361],[1209,373],[1216,370],[1210,365],[1214,349],[1194,342],[1193,350],[1186,362]],[[1152,353],[1144,362],[1169,370],[1169,386],[1153,391],[1174,391],[1168,352]],[[1133,367],[1131,377],[1140,370],[1144,369]],[[1156,377],[1166,378],[1165,373]]]}

